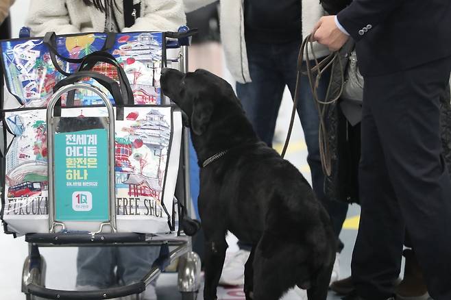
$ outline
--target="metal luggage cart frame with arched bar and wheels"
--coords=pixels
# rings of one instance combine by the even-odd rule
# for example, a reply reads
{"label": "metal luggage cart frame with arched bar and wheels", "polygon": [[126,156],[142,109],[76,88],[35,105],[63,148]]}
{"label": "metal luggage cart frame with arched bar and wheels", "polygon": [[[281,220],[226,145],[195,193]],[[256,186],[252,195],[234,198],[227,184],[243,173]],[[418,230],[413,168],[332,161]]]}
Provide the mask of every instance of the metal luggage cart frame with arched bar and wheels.
{"label": "metal luggage cart frame with arched bar and wheels", "polygon": [[[179,32],[188,32],[187,27],[180,27]],[[187,71],[189,38],[179,38],[167,43],[167,48],[180,49],[178,60],[173,63],[178,64],[180,71]],[[25,241],[28,243],[29,255],[23,264],[22,292],[27,300],[32,299],[112,299],[136,295],[145,291],[146,286],[156,279],[171,262],[177,258],[178,261],[178,288],[182,293],[182,300],[197,299],[197,292],[200,286],[201,264],[199,255],[192,251],[191,236],[199,229],[199,223],[193,221],[191,215],[191,198],[189,190],[189,158],[188,158],[188,129],[183,127],[182,147],[180,166],[178,170],[178,182],[175,188],[175,198],[178,199],[179,227],[177,236],[173,234],[152,235],[116,232],[116,211],[114,210],[114,193],[109,202],[109,221],[102,223],[98,232],[67,232],[62,230],[56,232],[58,227],[64,229],[64,223],[55,221],[55,198],[53,193],[53,108],[60,98],[70,90],[86,88],[97,93],[108,109],[108,117],[114,119],[112,105],[108,97],[95,86],[89,84],[71,84],[56,92],[51,98],[47,107],[47,130],[49,149],[49,233],[48,234],[26,234]],[[114,122],[108,124],[109,134],[109,186],[114,187]],[[112,140],[113,139],[113,140]],[[113,189],[114,190],[114,189]],[[110,232],[103,229],[109,227]],[[99,246],[134,246],[134,247],[160,247],[160,257],[154,262],[154,266],[141,279],[140,282],[127,286],[106,288],[101,290],[75,291],[75,290],[53,290],[45,287],[46,263],[40,255],[40,247],[99,247]],[[38,298],[39,297],[39,298]]]}

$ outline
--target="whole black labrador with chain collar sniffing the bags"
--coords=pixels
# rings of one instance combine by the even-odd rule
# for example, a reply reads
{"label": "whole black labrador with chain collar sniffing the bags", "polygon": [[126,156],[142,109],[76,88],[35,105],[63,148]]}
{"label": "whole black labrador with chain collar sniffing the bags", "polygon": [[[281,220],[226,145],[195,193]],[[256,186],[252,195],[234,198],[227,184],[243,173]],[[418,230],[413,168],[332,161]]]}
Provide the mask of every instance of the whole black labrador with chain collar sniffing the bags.
{"label": "whole black labrador with chain collar sniffing the bags", "polygon": [[326,300],[336,240],[302,174],[256,136],[230,84],[204,70],[163,69],[161,86],[189,118],[199,159],[205,234],[204,299],[217,299],[226,234],[253,245],[246,300],[277,300],[297,285]]}

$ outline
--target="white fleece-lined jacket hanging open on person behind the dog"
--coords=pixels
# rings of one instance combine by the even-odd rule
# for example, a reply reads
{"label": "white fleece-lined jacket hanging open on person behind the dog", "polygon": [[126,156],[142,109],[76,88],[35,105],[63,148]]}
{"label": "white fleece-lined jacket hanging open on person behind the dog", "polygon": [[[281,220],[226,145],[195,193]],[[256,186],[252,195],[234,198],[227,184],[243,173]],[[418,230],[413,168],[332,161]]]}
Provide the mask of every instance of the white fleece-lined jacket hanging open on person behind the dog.
{"label": "white fleece-lined jacket hanging open on person behind the dog", "polygon": [[[319,0],[302,1],[302,36],[307,36],[325,12]],[[184,0],[186,12],[191,12],[215,0]],[[221,42],[226,53],[230,73],[237,82],[251,82],[247,65],[246,42],[244,39],[243,0],[221,0]],[[274,5],[277,5],[276,3]],[[317,58],[328,55],[326,47],[315,43]]]}

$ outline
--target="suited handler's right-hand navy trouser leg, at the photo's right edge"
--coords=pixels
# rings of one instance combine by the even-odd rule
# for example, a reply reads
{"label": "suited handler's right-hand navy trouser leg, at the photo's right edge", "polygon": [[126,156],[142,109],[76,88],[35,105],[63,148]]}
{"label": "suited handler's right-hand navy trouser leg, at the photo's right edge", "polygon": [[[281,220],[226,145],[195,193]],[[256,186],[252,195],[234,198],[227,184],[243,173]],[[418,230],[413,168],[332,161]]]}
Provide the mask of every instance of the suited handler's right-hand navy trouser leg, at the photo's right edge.
{"label": "suited handler's right-hand navy trouser leg, at the photo's right edge", "polygon": [[[372,104],[388,175],[430,295],[451,299],[451,180],[443,160],[439,98],[451,58],[383,78]],[[377,199],[380,201],[380,199]]]}

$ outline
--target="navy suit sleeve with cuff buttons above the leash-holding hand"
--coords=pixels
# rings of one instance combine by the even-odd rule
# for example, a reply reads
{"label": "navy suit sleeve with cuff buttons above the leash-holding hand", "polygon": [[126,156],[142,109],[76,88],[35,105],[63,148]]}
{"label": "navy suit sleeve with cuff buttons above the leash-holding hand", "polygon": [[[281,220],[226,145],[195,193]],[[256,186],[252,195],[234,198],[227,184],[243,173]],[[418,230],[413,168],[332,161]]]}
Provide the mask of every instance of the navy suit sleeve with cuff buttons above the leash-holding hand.
{"label": "navy suit sleeve with cuff buttons above the leash-holding hand", "polygon": [[358,41],[365,36],[359,34],[363,28],[371,29],[383,23],[404,1],[409,0],[354,0],[337,18],[352,38]]}

